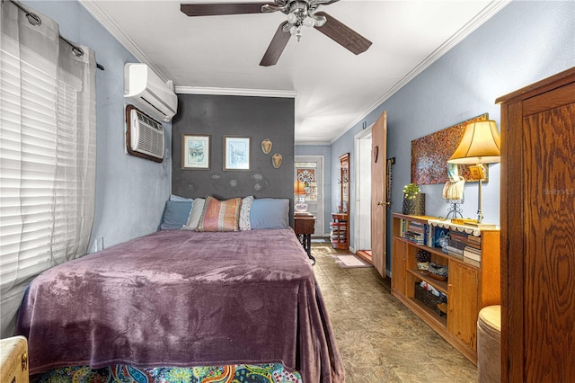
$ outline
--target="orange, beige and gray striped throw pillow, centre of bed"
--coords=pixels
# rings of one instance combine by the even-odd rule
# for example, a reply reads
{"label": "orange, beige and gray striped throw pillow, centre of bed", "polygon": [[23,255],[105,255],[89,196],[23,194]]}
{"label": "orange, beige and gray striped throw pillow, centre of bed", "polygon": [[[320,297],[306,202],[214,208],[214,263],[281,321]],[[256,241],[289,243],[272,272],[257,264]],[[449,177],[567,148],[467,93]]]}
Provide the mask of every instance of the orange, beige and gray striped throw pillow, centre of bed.
{"label": "orange, beige and gray striped throw pillow, centre of bed", "polygon": [[196,231],[238,231],[241,198],[217,200],[208,196]]}

